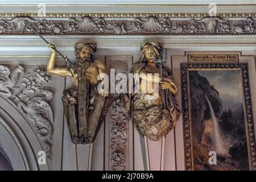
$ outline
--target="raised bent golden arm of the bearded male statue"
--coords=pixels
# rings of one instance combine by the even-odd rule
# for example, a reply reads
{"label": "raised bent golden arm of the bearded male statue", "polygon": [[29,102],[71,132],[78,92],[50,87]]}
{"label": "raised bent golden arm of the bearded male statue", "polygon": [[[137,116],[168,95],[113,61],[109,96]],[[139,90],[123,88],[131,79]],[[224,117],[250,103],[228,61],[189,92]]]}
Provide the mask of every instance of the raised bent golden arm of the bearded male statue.
{"label": "raised bent golden arm of the bearded male statue", "polygon": [[52,44],[49,44],[49,49],[51,50],[52,54],[47,63],[47,73],[56,76],[72,77],[71,73],[67,71],[67,68],[54,68],[56,51]]}

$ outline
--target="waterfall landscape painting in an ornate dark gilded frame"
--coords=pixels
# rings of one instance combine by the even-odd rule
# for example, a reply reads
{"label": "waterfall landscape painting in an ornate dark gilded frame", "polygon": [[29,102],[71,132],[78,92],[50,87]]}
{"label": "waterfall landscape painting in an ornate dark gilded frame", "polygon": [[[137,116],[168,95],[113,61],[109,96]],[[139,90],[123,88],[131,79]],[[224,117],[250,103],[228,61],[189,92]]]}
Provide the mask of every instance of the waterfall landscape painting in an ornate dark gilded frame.
{"label": "waterfall landscape painting in an ornate dark gilded frame", "polygon": [[181,63],[185,168],[256,170],[246,63]]}

